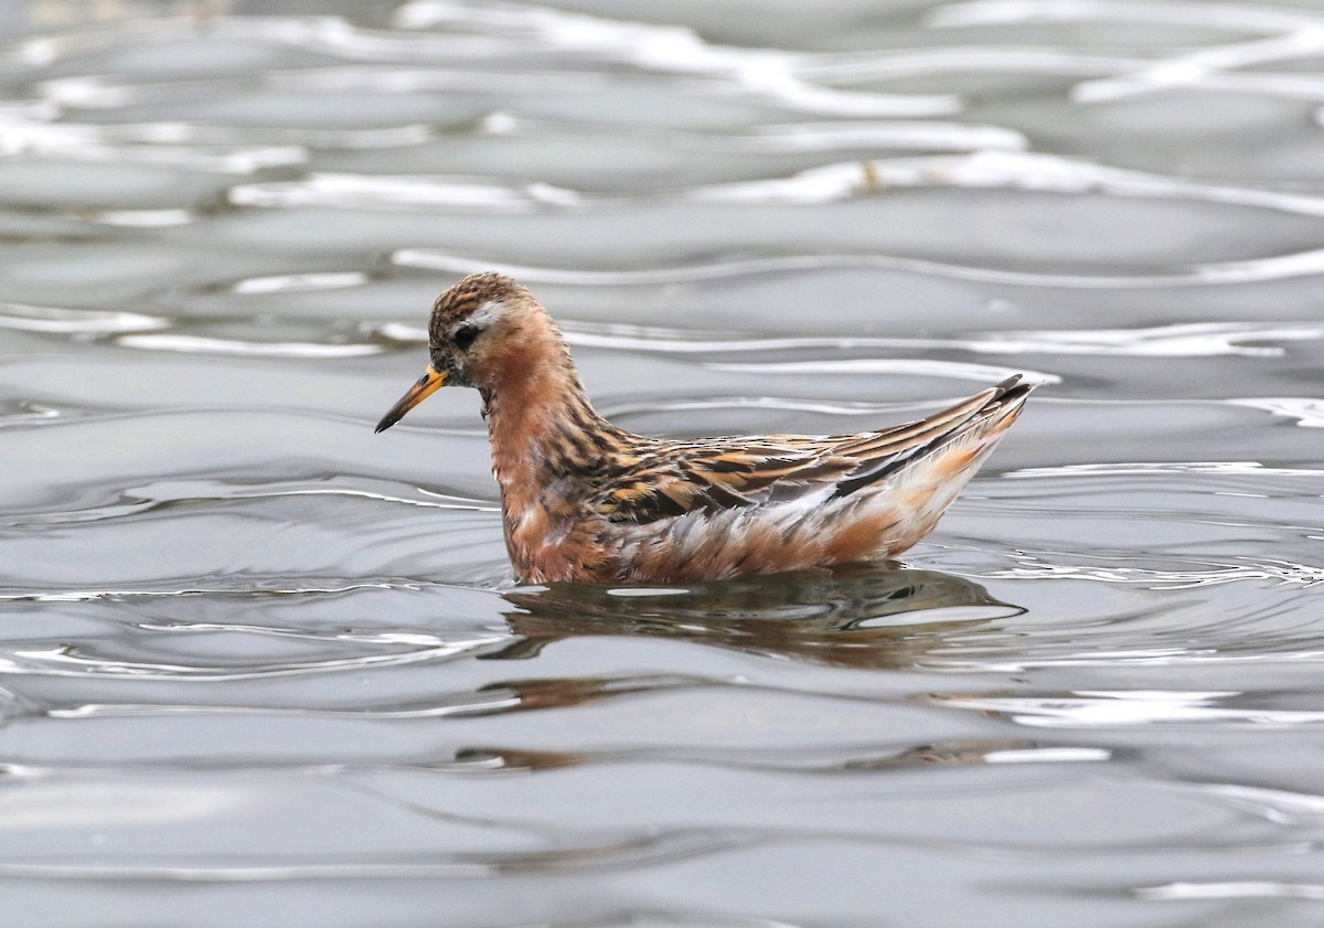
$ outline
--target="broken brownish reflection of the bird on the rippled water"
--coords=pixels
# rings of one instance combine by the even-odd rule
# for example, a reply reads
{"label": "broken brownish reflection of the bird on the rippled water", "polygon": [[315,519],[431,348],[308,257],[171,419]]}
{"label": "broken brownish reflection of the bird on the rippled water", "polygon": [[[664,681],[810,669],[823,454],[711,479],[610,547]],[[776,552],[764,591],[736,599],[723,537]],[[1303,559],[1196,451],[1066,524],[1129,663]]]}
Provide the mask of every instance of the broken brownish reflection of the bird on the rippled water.
{"label": "broken brownish reflection of the bird on the rippled water", "polygon": [[[580,584],[526,586],[503,594],[506,621],[516,641],[483,659],[536,658],[559,641],[576,637],[646,635],[714,645],[751,654],[828,667],[919,670],[951,653],[957,638],[998,633],[1000,618],[1025,612],[993,598],[984,586],[937,571],[899,565],[859,565],[837,571],[751,577],[685,586],[613,588]],[[963,642],[964,643],[964,642]],[[482,687],[500,695],[499,711],[539,711],[583,706],[630,694],[732,686],[731,680],[677,673],[622,676],[522,676]],[[767,686],[764,682],[760,686]],[[1019,741],[883,744],[821,756],[804,752],[710,751],[584,752],[528,745],[470,745],[457,761],[508,769],[545,769],[591,763],[667,756],[736,766],[863,770],[919,764],[982,763],[990,751],[1019,749]],[[659,749],[661,751],[661,749]]]}

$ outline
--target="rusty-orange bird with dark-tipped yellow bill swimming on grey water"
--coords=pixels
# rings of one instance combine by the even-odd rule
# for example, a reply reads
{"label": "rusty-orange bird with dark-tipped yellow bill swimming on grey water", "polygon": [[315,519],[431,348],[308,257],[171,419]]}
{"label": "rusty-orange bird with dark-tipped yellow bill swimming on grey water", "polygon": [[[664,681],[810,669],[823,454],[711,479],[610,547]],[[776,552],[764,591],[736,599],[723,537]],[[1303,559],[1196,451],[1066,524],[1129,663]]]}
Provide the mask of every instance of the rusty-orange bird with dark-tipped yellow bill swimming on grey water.
{"label": "rusty-orange bird with dark-tipped yellow bill swimming on grey water", "polygon": [[669,441],[593,409],[551,315],[508,277],[471,274],[446,290],[428,336],[432,363],[377,432],[442,385],[478,389],[506,548],[532,584],[890,559],[933,528],[1034,388],[1017,375],[880,432]]}

